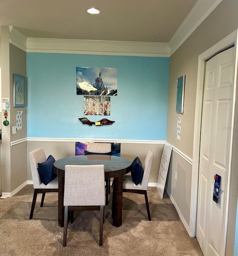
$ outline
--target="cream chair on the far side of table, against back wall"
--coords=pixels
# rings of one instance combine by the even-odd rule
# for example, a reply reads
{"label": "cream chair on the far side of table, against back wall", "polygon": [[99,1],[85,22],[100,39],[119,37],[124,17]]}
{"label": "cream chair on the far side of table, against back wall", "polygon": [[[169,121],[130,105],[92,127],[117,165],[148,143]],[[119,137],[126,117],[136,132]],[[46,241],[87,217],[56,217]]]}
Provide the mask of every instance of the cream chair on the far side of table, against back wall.
{"label": "cream chair on the far side of table, against back wall", "polygon": [[[96,143],[96,142],[89,142],[87,145],[87,151],[90,153],[97,153],[97,154],[112,154],[112,145],[111,143]],[[108,205],[108,194],[110,194],[110,183],[111,180],[105,179],[106,181],[106,205]]]}

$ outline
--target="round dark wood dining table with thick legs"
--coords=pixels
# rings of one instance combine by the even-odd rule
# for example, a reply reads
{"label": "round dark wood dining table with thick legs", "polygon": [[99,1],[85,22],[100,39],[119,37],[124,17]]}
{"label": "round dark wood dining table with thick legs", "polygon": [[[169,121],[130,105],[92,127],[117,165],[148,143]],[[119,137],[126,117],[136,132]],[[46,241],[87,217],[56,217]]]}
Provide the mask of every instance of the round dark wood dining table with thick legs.
{"label": "round dark wood dining table with thick legs", "polygon": [[131,161],[118,156],[87,155],[64,157],[54,162],[54,172],[59,179],[58,192],[58,224],[64,226],[64,172],[65,165],[93,165],[103,164],[105,179],[113,179],[112,193],[112,224],[115,227],[122,225],[122,182],[123,175],[130,171]]}

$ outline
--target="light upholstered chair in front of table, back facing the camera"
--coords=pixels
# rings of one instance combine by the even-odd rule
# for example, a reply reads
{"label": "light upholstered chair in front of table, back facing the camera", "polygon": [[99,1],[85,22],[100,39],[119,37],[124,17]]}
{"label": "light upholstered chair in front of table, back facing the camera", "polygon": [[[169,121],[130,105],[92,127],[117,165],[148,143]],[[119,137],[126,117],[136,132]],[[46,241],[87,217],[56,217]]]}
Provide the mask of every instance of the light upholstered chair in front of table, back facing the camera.
{"label": "light upholstered chair in front of table, back facing the camera", "polygon": [[104,165],[65,165],[64,183],[64,238],[66,246],[68,211],[100,210],[100,238],[103,244],[105,205]]}

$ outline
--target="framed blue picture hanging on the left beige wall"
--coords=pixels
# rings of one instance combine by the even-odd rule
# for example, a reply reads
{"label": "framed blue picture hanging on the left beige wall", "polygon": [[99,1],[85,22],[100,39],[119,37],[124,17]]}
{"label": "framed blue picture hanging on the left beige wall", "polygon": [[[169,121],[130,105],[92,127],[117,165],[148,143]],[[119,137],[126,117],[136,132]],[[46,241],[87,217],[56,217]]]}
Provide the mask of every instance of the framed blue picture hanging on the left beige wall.
{"label": "framed blue picture hanging on the left beige wall", "polygon": [[14,107],[25,107],[25,77],[13,75]]}

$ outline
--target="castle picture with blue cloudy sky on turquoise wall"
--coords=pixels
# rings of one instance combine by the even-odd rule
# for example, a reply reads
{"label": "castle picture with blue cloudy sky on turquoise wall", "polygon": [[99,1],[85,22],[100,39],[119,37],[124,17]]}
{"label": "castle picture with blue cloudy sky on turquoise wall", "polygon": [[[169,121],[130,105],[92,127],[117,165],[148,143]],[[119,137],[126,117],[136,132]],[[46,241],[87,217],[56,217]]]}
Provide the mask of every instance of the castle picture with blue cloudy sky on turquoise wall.
{"label": "castle picture with blue cloudy sky on turquoise wall", "polygon": [[[103,76],[106,80],[105,84]],[[118,92],[117,68],[76,67],[76,92],[77,95],[116,96]]]}

